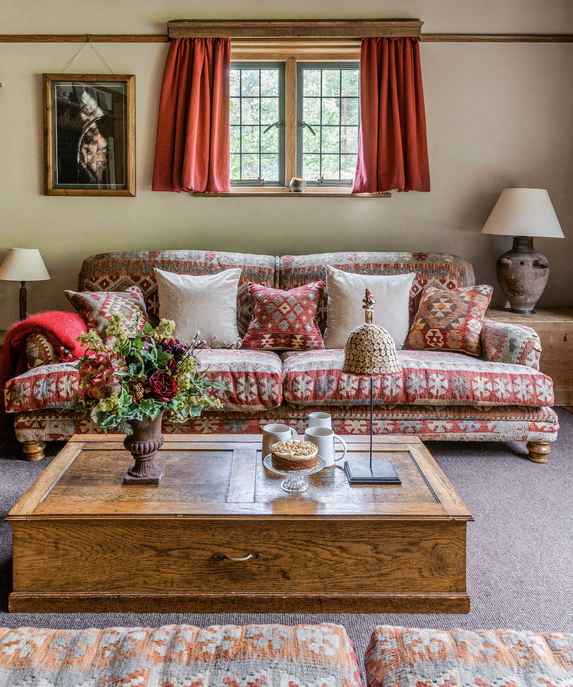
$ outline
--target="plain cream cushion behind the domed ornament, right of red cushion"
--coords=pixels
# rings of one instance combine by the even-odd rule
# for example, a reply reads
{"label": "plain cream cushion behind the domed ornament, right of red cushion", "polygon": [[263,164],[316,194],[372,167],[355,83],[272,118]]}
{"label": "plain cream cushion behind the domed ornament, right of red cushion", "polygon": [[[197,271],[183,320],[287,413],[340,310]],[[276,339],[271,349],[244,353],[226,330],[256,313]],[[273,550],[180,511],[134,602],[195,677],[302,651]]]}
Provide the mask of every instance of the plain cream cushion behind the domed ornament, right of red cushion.
{"label": "plain cream cushion behind the domed ornament, right of red cushion", "polygon": [[362,300],[366,289],[376,300],[374,324],[388,330],[396,348],[402,348],[408,335],[408,302],[414,277],[415,272],[389,276],[354,274],[327,265],[325,348],[344,348],[352,330],[364,324]]}

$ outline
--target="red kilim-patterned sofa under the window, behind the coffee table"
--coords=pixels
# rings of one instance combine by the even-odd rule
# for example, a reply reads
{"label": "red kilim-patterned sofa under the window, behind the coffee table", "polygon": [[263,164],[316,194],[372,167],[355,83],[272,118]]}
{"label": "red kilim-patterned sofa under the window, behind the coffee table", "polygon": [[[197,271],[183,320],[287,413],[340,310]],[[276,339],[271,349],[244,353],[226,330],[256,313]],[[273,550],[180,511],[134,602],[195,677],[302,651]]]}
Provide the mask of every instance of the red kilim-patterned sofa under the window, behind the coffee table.
{"label": "red kilim-patterned sofa under the window, behind the coffee table", "polygon": [[[471,264],[441,253],[330,253],[307,256],[259,256],[214,251],[138,251],[91,256],[83,262],[79,291],[122,291],[139,286],[152,320],[159,312],[153,268],[182,274],[216,273],[241,267],[237,326],[246,333],[250,321],[248,282],[291,289],[325,279],[327,264],[364,274],[415,272],[410,318],[426,284],[453,289],[472,286]],[[214,313],[215,315],[215,313]],[[325,329],[326,297],[319,310]],[[375,381],[373,428],[376,433],[412,433],[422,440],[526,441],[530,459],[545,462],[559,423],[552,410],[550,377],[539,372],[539,337],[530,328],[484,319],[484,354],[475,359],[457,352],[398,351],[402,377]],[[332,414],[335,431],[368,429],[367,379],[340,371],[342,350],[286,352],[204,350],[202,363],[213,379],[226,383],[224,407],[199,418],[173,424],[164,433],[260,433],[280,421],[302,432],[307,414]],[[74,433],[100,431],[89,416],[62,412],[78,388],[69,363],[28,370],[6,384],[6,410],[14,413],[17,438],[26,453],[40,455],[41,442]]]}

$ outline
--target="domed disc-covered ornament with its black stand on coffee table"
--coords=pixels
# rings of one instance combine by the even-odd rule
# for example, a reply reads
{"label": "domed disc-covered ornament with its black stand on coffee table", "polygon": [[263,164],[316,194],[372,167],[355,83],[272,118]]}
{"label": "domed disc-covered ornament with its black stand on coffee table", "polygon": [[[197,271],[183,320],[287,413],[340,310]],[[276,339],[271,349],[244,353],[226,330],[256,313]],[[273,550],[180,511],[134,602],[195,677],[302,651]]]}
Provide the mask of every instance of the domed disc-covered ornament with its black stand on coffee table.
{"label": "domed disc-covered ornament with its black stand on coffee table", "polygon": [[374,377],[398,374],[402,367],[396,355],[396,345],[391,335],[378,324],[372,324],[376,301],[369,289],[363,299],[365,324],[353,329],[346,342],[343,372],[360,377],[370,377],[370,462],[347,460],[344,469],[352,484],[402,484],[390,460],[372,463],[372,416]]}

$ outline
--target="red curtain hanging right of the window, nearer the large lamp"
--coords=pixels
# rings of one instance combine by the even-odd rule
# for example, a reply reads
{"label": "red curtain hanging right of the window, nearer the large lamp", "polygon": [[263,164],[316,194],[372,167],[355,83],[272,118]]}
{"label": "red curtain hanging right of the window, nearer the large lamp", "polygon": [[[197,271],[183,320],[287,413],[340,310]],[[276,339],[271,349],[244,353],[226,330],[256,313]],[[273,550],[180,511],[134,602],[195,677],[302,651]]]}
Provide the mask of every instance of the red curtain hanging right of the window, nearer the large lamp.
{"label": "red curtain hanging right of the window, nearer the large lamp", "polygon": [[363,38],[353,193],[429,191],[418,38]]}

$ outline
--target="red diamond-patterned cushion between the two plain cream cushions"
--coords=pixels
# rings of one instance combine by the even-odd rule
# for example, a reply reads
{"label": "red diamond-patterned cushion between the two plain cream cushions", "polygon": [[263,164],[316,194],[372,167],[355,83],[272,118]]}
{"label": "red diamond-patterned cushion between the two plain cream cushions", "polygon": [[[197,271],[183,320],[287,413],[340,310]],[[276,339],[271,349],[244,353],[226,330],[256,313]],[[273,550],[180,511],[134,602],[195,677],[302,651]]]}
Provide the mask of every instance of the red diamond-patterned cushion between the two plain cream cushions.
{"label": "red diamond-patterned cushion between the two plain cream cushions", "polygon": [[324,348],[316,311],[325,282],[296,286],[290,291],[249,284],[252,319],[241,348],[318,350]]}

